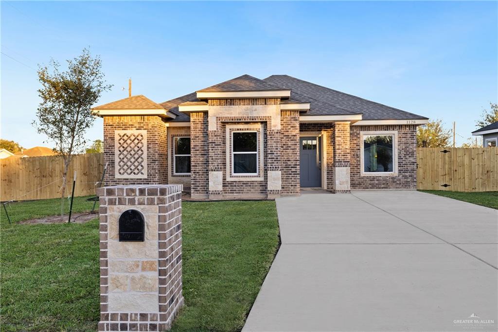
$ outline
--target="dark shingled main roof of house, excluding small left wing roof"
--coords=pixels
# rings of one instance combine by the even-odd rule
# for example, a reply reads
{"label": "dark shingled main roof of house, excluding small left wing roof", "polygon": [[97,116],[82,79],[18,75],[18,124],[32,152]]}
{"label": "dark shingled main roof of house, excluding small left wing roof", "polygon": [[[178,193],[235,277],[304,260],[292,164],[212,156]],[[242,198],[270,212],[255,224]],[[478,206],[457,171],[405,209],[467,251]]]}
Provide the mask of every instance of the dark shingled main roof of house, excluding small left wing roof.
{"label": "dark shingled main roof of house, excluding small left wing roof", "polygon": [[[285,102],[310,103],[310,110],[301,115],[346,115],[363,114],[364,120],[427,119],[407,111],[375,103],[337,90],[322,87],[288,75],[272,75],[263,80],[249,75],[198,90],[209,91],[275,91],[291,90],[290,99]],[[170,122],[190,121],[188,114],[178,111],[178,105],[185,102],[198,102],[196,92],[184,95],[159,105],[176,114]]]}

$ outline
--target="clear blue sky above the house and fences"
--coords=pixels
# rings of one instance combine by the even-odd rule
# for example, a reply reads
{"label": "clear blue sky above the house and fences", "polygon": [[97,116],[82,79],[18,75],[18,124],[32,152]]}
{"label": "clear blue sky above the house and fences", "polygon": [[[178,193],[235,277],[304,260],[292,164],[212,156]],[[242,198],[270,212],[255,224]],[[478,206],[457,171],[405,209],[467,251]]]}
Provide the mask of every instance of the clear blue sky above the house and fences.
{"label": "clear blue sky above the house and fences", "polygon": [[[99,104],[127,97],[128,77],[134,95],[160,103],[242,74],[288,74],[456,121],[461,144],[498,102],[497,12],[491,1],[2,1],[1,137],[43,144],[30,124],[37,64],[89,46],[114,85]],[[87,138],[102,138],[101,119]]]}

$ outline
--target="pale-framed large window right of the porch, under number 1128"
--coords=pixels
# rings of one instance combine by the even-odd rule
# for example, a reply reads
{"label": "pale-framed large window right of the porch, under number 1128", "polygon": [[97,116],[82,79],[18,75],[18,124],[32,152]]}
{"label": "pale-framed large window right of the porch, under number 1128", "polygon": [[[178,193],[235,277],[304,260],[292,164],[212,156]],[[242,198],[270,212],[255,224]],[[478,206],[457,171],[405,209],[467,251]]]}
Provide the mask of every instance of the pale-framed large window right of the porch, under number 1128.
{"label": "pale-framed large window right of the porch, under number 1128", "polygon": [[361,175],[397,175],[397,131],[360,133]]}

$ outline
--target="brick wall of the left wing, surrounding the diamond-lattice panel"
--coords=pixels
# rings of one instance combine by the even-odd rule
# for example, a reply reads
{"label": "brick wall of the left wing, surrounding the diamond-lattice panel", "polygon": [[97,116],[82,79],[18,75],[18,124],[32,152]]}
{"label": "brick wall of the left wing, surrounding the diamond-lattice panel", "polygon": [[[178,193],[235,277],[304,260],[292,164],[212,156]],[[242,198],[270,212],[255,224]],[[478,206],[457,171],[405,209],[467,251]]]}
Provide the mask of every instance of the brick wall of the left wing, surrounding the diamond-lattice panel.
{"label": "brick wall of the left wing, surrounding the diamond-lattice panel", "polygon": [[[115,131],[146,130],[147,177],[116,178]],[[159,116],[104,116],[104,165],[107,165],[104,183],[114,185],[166,184],[167,171],[166,126]]]}

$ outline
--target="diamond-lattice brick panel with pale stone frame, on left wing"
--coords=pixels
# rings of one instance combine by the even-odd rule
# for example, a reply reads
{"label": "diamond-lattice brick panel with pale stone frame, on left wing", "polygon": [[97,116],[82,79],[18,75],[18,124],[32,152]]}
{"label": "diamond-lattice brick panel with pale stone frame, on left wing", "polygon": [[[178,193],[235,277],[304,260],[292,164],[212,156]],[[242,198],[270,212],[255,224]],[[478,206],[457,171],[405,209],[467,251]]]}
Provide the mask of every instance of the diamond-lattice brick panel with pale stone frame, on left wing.
{"label": "diamond-lattice brick panel with pale stone frame, on left wing", "polygon": [[147,177],[147,130],[116,130],[116,178]]}

